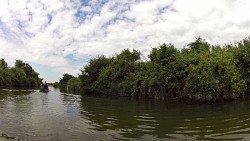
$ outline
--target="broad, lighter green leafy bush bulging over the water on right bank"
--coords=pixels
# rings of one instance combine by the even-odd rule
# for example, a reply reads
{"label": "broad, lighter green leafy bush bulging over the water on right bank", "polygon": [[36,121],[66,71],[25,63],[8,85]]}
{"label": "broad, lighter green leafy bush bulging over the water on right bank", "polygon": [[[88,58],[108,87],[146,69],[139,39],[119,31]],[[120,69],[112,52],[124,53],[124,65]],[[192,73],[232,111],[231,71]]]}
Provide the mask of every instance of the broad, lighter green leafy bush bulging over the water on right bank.
{"label": "broad, lighter green leafy bush bulging over the water on right bank", "polygon": [[244,95],[245,81],[240,78],[231,53],[213,52],[202,57],[198,65],[187,69],[185,93],[198,101],[236,99]]}

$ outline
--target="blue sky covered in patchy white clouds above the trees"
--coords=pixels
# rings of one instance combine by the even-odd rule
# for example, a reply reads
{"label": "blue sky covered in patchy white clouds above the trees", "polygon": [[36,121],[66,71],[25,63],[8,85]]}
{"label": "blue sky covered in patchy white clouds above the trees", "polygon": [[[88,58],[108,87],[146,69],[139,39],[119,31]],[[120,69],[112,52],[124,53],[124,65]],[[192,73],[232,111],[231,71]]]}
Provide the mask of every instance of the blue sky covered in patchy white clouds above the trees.
{"label": "blue sky covered in patchy white clouds above the trees", "polygon": [[1,0],[0,58],[21,59],[48,82],[78,76],[88,61],[124,49],[147,56],[196,37],[211,44],[249,37],[248,0]]}

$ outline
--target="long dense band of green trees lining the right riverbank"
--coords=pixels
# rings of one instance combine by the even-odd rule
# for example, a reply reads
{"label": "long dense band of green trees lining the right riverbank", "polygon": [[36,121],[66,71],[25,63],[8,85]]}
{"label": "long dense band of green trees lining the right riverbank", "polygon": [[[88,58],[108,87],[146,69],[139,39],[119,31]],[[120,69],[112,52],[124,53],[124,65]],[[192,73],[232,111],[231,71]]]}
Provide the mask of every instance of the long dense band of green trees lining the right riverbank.
{"label": "long dense band of green trees lining the right riverbank", "polygon": [[202,38],[179,50],[171,44],[152,48],[148,60],[125,49],[89,61],[74,77],[64,74],[61,91],[138,98],[222,101],[250,91],[250,38],[225,46]]}

